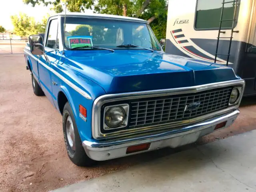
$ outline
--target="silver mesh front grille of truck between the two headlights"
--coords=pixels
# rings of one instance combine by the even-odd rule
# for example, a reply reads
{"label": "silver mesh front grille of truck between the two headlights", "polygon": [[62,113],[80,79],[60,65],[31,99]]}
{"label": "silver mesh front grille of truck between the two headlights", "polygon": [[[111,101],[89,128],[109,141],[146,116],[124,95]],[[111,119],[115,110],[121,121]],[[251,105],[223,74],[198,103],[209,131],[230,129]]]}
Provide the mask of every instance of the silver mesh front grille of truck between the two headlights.
{"label": "silver mesh front grille of truck between the two headlights", "polygon": [[[140,128],[187,120],[228,107],[232,87],[198,93],[161,96],[130,102],[129,128]],[[200,103],[199,103],[200,102]],[[190,104],[197,108],[185,110]]]}

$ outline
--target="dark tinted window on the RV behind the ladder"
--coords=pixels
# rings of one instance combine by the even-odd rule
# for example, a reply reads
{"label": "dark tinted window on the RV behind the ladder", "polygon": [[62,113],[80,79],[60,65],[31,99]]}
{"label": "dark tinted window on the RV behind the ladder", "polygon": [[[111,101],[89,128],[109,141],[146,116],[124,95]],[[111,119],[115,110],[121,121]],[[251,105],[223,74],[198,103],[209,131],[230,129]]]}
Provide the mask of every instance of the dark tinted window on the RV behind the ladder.
{"label": "dark tinted window on the RV behind the ladder", "polygon": [[[229,0],[226,0],[228,2]],[[196,6],[196,29],[218,29],[223,0],[198,0]],[[233,19],[235,2],[224,4],[222,20]],[[238,16],[238,10],[236,16]],[[231,28],[232,21],[223,21],[221,28]]]}

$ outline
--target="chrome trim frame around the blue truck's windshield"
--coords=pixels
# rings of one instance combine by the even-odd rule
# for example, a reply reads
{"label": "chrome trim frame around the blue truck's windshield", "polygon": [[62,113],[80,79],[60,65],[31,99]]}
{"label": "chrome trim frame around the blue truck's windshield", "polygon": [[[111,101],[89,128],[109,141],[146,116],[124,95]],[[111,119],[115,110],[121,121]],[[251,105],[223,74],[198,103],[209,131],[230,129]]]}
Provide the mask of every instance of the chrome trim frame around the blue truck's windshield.
{"label": "chrome trim frame around the blue truck's windshield", "polygon": [[[112,19],[112,18],[104,18],[104,17],[88,17],[88,16],[67,16],[66,18],[88,18],[88,19],[95,19],[95,20],[117,20],[117,19]],[[146,24],[148,30],[150,30],[150,32],[152,33],[152,36],[154,38],[154,40],[156,41],[156,43],[158,44],[158,47],[160,47],[160,49],[152,49],[154,51],[161,51],[162,48],[152,30],[152,28],[150,27],[150,25],[148,24],[148,22],[143,22],[143,21],[136,21],[136,20],[121,20],[121,19],[118,19],[119,21],[122,21],[122,22],[132,22],[132,23],[141,23],[141,24]],[[62,27],[64,25],[64,17],[62,16],[61,19],[60,19],[60,25],[61,25],[61,35],[62,35],[62,45],[64,47],[65,50],[71,50],[71,48],[68,48],[66,47],[66,44],[65,44],[65,34],[64,34],[64,27]],[[133,48],[133,49],[130,49],[130,48],[111,48],[113,50],[144,50],[144,49],[138,49],[138,48]],[[81,50],[94,50],[94,49],[81,49]],[[98,49],[100,50],[100,49]]]}

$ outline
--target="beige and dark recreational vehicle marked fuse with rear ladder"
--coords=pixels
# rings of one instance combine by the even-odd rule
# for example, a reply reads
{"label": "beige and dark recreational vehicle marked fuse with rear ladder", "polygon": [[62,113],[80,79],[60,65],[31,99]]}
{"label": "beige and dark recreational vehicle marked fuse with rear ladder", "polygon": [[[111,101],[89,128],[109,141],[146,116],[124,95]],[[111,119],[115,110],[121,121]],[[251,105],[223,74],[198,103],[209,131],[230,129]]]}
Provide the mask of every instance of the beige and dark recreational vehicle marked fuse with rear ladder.
{"label": "beige and dark recreational vehicle marked fuse with rear ladder", "polygon": [[169,0],[165,52],[231,66],[256,95],[256,0]]}

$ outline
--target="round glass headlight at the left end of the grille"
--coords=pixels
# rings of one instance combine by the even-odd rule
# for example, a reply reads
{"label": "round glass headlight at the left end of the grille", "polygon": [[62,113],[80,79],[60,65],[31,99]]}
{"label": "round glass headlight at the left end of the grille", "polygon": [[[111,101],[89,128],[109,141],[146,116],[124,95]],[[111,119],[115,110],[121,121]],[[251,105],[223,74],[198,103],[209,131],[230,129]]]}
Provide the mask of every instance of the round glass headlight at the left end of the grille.
{"label": "round glass headlight at the left end of the grille", "polygon": [[116,128],[125,119],[125,111],[122,107],[116,106],[108,109],[105,114],[105,123],[110,128]]}

